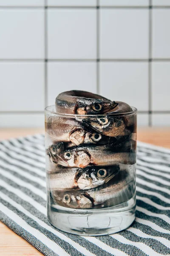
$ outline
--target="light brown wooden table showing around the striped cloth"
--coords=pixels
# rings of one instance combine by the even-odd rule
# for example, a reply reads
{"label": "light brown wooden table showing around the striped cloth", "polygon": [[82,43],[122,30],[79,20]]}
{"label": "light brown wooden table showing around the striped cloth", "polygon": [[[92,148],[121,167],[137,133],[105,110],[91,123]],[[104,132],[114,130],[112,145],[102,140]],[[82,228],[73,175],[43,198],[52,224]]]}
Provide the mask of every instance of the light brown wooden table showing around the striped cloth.
{"label": "light brown wooden table showing around the striped cloth", "polygon": [[[0,129],[0,140],[43,132],[42,128]],[[139,128],[137,137],[140,141],[170,148],[170,128]],[[0,255],[40,256],[42,253],[0,222]]]}

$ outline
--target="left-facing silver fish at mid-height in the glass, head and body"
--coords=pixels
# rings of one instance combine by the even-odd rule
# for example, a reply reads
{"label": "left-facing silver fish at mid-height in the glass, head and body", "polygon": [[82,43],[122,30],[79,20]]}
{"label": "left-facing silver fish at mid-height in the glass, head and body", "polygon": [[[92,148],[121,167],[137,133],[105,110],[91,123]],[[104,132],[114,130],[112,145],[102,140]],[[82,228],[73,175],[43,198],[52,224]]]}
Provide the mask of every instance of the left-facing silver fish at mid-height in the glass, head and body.
{"label": "left-facing silver fish at mid-height in the glass, head and body", "polygon": [[136,163],[135,151],[131,150],[131,148],[123,150],[106,145],[79,145],[74,148],[66,149],[64,152],[57,155],[58,160],[56,160],[56,163],[62,166],[79,168],[84,168],[90,164],[112,166],[119,163]]}

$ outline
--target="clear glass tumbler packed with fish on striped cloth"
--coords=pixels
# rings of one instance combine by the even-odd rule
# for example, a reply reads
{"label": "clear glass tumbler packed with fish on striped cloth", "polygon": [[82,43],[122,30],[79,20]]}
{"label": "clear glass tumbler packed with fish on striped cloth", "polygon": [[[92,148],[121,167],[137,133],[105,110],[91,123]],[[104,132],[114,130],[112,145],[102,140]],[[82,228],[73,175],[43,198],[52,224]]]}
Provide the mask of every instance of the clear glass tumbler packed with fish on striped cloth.
{"label": "clear glass tumbler packed with fish on striped cloth", "polygon": [[86,236],[135,219],[137,109],[71,115],[45,108],[47,211],[58,229]]}

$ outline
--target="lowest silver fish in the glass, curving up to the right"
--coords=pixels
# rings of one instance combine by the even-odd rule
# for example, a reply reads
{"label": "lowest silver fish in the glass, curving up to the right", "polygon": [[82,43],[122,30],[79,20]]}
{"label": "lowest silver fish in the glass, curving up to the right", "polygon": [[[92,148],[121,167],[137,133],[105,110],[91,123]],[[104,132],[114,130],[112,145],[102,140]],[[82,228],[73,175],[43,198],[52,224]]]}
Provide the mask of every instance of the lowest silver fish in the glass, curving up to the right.
{"label": "lowest silver fish in the glass, curving up to the right", "polygon": [[122,204],[133,197],[135,180],[127,172],[119,172],[102,187],[89,190],[55,191],[54,201],[65,207],[77,209],[104,208]]}

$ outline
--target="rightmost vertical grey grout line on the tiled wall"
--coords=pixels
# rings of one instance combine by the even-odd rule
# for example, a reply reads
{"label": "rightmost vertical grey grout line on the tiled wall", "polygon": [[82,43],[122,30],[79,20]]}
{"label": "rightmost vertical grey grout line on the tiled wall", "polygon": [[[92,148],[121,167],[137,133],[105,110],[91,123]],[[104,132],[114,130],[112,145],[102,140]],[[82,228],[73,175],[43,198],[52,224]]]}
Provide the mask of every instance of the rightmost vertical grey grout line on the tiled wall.
{"label": "rightmost vertical grey grout line on the tiled wall", "polygon": [[149,0],[149,62],[148,62],[148,100],[149,126],[152,126],[152,0]]}

